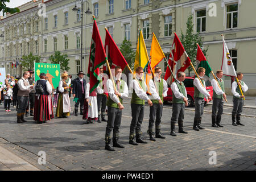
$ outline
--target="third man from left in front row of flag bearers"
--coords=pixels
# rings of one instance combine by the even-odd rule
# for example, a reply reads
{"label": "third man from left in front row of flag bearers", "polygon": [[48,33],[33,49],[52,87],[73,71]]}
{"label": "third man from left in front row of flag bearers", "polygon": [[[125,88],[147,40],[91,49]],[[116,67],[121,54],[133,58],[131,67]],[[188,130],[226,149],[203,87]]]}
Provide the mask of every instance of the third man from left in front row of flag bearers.
{"label": "third man from left in front row of flag bearers", "polygon": [[[153,99],[151,100],[153,105],[150,106],[150,119],[148,120],[148,134],[150,140],[155,141],[155,138],[166,138],[161,133],[161,118],[163,113],[163,98],[167,96],[168,85],[165,80],[161,78],[162,69],[155,67],[155,83],[151,79],[149,81],[150,93]],[[156,88],[155,88],[156,86]],[[154,122],[155,122],[155,138],[154,138]]]}

